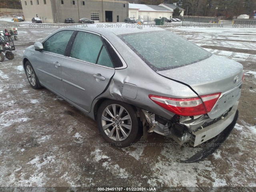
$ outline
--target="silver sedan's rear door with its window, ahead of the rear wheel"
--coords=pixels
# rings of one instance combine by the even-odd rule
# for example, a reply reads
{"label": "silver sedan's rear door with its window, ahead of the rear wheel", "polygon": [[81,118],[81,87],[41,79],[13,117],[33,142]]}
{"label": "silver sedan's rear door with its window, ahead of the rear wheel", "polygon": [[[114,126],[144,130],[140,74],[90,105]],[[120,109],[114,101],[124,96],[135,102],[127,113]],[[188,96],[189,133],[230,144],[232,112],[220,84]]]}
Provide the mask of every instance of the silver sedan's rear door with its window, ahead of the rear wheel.
{"label": "silver sedan's rear door with its window, ahead of the rear wheel", "polygon": [[78,31],[62,64],[62,81],[66,98],[90,112],[94,98],[104,92],[114,65],[102,37],[92,32]]}

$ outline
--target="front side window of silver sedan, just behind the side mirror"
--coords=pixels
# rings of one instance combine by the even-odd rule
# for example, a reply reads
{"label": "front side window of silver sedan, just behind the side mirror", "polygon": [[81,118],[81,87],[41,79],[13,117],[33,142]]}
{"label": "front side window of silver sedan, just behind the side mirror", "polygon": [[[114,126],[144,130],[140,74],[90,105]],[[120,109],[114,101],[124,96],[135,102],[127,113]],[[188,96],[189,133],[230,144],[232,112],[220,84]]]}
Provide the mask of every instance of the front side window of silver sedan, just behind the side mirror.
{"label": "front side window of silver sedan, just behind the side mirror", "polygon": [[64,55],[73,32],[73,30],[65,30],[52,35],[43,43],[44,51]]}

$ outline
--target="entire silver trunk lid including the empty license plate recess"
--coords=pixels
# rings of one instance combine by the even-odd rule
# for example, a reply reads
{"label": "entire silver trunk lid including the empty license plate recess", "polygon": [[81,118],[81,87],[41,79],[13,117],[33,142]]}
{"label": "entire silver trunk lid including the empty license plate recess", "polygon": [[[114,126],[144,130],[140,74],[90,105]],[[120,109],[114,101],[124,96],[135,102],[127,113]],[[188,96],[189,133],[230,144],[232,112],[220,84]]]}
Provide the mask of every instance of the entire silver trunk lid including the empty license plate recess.
{"label": "entire silver trunk lid including the empty license plate recess", "polygon": [[157,73],[187,84],[199,96],[221,92],[220,98],[208,113],[211,119],[224,114],[236,104],[241,95],[242,64],[221,56],[212,55],[194,64]]}

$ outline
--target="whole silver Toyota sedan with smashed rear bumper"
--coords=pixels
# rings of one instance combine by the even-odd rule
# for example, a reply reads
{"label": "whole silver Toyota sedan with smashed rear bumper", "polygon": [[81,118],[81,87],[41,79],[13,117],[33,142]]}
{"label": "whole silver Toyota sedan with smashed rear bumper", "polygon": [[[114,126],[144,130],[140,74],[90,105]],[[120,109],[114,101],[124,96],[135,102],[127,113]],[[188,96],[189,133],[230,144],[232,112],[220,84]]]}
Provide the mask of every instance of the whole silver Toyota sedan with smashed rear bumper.
{"label": "whole silver Toyota sedan with smashed rear bumper", "polygon": [[212,143],[181,161],[195,162],[224,142],[238,118],[243,66],[170,30],[62,28],[26,48],[22,60],[32,88],[93,118],[114,146],[149,132],[180,145]]}

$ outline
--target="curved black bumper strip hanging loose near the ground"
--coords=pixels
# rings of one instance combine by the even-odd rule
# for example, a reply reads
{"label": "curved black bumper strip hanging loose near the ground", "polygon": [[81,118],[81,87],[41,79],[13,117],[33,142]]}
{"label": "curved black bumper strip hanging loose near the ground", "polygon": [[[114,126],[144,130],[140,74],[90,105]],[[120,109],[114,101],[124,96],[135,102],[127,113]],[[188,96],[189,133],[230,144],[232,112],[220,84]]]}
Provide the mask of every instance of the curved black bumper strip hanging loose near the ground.
{"label": "curved black bumper strip hanging loose near the ground", "polygon": [[236,110],[234,120],[218,136],[216,136],[214,140],[209,142],[206,148],[194,154],[192,157],[190,157],[187,160],[177,160],[177,161],[180,163],[194,163],[194,162],[203,160],[204,158],[214,153],[214,151],[217,150],[219,146],[221,146],[221,144],[229,136],[230,132],[233,130],[234,126],[236,125],[237,119],[238,119],[238,110]]}

